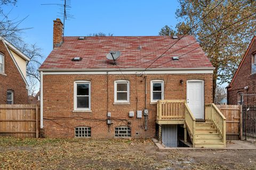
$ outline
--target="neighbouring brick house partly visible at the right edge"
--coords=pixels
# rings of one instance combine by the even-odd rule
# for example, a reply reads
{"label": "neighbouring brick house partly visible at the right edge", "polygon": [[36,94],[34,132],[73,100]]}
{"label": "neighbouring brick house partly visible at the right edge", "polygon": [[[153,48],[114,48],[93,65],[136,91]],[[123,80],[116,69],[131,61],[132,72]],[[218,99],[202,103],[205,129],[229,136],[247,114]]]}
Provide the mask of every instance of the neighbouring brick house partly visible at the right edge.
{"label": "neighbouring brick house partly visible at the right edge", "polygon": [[227,87],[228,104],[256,104],[256,36],[253,37]]}

